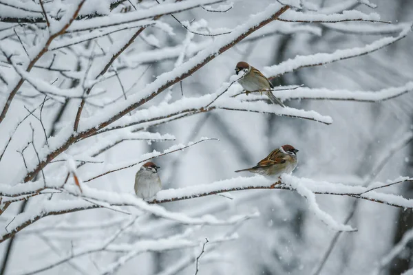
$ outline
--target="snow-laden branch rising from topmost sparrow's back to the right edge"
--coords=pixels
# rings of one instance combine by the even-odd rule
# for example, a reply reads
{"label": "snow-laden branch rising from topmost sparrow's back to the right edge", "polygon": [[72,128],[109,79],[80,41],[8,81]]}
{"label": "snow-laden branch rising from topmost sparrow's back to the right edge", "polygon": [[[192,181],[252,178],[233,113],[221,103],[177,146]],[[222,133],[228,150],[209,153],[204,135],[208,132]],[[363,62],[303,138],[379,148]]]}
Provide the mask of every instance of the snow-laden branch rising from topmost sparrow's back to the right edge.
{"label": "snow-laden branch rising from topmost sparrow's back to the right edge", "polygon": [[403,28],[403,30],[400,32],[398,36],[384,37],[383,39],[374,41],[373,43],[368,44],[364,47],[353,47],[351,49],[346,50],[336,50],[332,54],[319,53],[308,56],[296,56],[295,58],[288,59],[288,61],[284,61],[282,63],[279,63],[278,65],[264,67],[262,72],[266,76],[271,76],[270,78],[276,78],[278,76],[282,76],[283,74],[293,72],[296,69],[325,65],[335,61],[341,61],[356,56],[362,56],[364,54],[370,54],[371,52],[380,50],[383,47],[391,45],[396,41],[405,38],[405,36],[409,34],[411,29],[412,23],[405,24],[405,28]]}

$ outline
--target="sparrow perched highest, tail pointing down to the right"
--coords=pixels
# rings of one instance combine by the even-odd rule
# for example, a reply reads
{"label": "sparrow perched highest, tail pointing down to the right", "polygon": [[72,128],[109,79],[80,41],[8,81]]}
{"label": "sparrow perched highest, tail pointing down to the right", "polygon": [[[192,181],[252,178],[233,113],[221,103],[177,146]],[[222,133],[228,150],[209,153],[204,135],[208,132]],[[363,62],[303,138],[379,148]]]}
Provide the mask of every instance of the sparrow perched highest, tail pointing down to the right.
{"label": "sparrow perched highest, tail pointing down to the right", "polygon": [[235,67],[235,74],[239,74],[240,72],[245,72],[245,74],[240,80],[238,80],[238,83],[241,84],[247,94],[251,91],[264,92],[273,104],[279,104],[281,107],[286,107],[271,92],[271,88],[274,88],[274,86],[271,84],[270,80],[261,74],[260,71],[255,69],[255,67],[241,61],[238,62]]}

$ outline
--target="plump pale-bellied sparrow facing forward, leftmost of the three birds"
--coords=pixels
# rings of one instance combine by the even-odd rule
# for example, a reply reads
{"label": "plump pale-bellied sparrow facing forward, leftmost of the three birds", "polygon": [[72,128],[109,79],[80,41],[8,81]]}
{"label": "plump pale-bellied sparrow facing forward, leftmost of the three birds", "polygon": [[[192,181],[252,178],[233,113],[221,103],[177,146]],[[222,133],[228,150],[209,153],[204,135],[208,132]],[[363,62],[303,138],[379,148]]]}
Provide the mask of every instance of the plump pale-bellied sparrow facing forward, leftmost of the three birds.
{"label": "plump pale-bellied sparrow facing forward, leftmost of the three birds", "polygon": [[158,169],[153,162],[143,164],[135,175],[135,194],[142,199],[149,199],[162,189]]}

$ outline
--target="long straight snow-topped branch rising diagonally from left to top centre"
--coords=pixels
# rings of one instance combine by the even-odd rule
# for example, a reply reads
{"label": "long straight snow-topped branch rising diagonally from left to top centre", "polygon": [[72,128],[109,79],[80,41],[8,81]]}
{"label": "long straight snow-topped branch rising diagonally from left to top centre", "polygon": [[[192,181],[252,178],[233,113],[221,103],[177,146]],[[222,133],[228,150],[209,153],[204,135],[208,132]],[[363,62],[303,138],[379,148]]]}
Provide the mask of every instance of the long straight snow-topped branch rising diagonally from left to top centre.
{"label": "long straight snow-topped branch rising diagonally from left to top centre", "polygon": [[[203,50],[197,56],[189,59],[186,63],[183,63],[176,69],[173,69],[171,72],[162,74],[153,81],[153,83],[147,85],[142,89],[138,94],[130,96],[124,102],[116,102],[110,108],[104,108],[103,112],[97,112],[96,115],[92,115],[89,118],[85,118],[82,123],[82,128],[77,133],[73,133],[73,127],[65,126],[59,133],[59,138],[56,138],[56,144],[54,148],[50,150],[49,148],[43,148],[41,153],[39,153],[40,163],[34,162],[33,159],[30,166],[30,172],[27,173],[24,177],[24,181],[30,181],[37,173],[39,173],[44,166],[46,166],[54,157],[65,151],[72,144],[78,140],[83,139],[89,135],[96,133],[98,130],[103,129],[105,126],[108,126],[112,122],[115,122],[119,118],[122,118],[123,115],[126,115],[130,111],[140,107],[145,102],[151,100],[158,94],[168,89],[173,84],[179,83],[180,80],[191,76],[194,72],[200,69],[209,61],[213,60],[222,52],[229,50],[233,45],[244,39],[249,34],[255,32],[262,28],[264,25],[274,21],[279,17],[280,14],[288,10],[288,6],[278,8],[278,5],[270,5],[264,12],[260,14],[255,14],[255,16],[248,19],[244,25],[240,25],[231,34],[226,36],[220,36],[216,39],[215,43],[208,47],[206,50]],[[81,106],[83,107],[83,106]],[[78,110],[82,108],[79,107]],[[80,119],[80,112],[78,111],[76,115],[76,122]],[[76,124],[77,126],[77,124]],[[77,127],[75,127],[77,129]],[[60,143],[60,144],[59,144]],[[34,168],[33,168],[34,167]]]}

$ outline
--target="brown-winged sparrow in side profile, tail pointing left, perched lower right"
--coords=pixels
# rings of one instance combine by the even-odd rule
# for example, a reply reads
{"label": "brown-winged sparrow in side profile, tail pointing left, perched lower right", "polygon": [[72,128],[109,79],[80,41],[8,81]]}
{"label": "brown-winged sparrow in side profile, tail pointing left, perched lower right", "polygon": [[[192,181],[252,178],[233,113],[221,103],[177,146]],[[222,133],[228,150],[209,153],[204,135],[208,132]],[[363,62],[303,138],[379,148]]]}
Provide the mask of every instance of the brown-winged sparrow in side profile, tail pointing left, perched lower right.
{"label": "brown-winged sparrow in side profile, tail pointing left, perched lower right", "polygon": [[297,167],[297,152],[296,148],[286,144],[272,151],[265,159],[258,162],[256,166],[235,172],[248,171],[274,179],[282,175],[282,173],[289,174],[293,172],[295,167]]}

